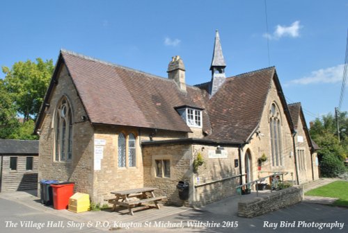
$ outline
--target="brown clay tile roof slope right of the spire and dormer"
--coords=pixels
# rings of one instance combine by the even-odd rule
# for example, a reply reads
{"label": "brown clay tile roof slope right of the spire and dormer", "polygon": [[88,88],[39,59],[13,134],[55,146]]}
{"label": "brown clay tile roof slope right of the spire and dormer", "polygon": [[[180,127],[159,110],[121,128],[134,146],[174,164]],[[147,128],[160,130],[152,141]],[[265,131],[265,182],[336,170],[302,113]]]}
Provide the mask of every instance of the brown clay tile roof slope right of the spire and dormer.
{"label": "brown clay tile roof slope right of the spire and dormer", "polygon": [[269,67],[227,78],[209,101],[207,139],[246,141],[258,127],[274,74]]}

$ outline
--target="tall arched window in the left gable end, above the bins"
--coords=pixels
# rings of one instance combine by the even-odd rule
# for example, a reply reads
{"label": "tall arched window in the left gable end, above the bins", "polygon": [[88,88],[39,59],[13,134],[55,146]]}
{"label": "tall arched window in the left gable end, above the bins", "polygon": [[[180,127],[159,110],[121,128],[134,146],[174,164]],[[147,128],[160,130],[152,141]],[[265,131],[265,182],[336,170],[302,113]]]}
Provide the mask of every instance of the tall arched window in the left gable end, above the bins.
{"label": "tall arched window in the left gable end, above the bins", "polygon": [[72,111],[68,100],[63,97],[55,114],[55,161],[72,159]]}

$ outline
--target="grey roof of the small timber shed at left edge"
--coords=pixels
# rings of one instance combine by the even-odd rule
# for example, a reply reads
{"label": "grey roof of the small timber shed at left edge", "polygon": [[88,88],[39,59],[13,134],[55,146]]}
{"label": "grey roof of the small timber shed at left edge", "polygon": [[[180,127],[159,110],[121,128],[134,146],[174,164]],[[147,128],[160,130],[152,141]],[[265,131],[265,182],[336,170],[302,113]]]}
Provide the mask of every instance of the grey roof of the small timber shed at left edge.
{"label": "grey roof of the small timber shed at left edge", "polygon": [[0,155],[38,155],[38,140],[0,139]]}

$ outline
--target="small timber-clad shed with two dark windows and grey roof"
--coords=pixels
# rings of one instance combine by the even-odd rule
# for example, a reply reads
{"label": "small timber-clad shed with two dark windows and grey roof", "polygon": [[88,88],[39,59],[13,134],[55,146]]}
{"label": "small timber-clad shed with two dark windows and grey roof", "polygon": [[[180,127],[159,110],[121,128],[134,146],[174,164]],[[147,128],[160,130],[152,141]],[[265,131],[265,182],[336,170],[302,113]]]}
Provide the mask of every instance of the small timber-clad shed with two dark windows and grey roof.
{"label": "small timber-clad shed with two dark windows and grey roof", "polygon": [[0,191],[38,187],[37,140],[0,139]]}

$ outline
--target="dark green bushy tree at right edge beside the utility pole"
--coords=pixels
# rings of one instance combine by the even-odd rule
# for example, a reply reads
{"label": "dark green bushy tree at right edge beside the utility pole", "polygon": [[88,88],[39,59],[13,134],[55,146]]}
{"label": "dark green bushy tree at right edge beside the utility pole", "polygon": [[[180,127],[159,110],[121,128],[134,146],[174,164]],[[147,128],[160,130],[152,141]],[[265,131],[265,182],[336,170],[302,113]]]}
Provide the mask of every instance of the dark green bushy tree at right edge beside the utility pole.
{"label": "dark green bushy tree at right edge beside the utility pole", "polygon": [[338,116],[340,125],[340,138],[338,141],[335,117],[332,114],[322,116],[322,119],[315,119],[310,127],[310,135],[318,144],[320,150],[318,157],[322,175],[332,177],[340,175],[345,171],[343,160],[347,157],[347,112],[341,112]]}

